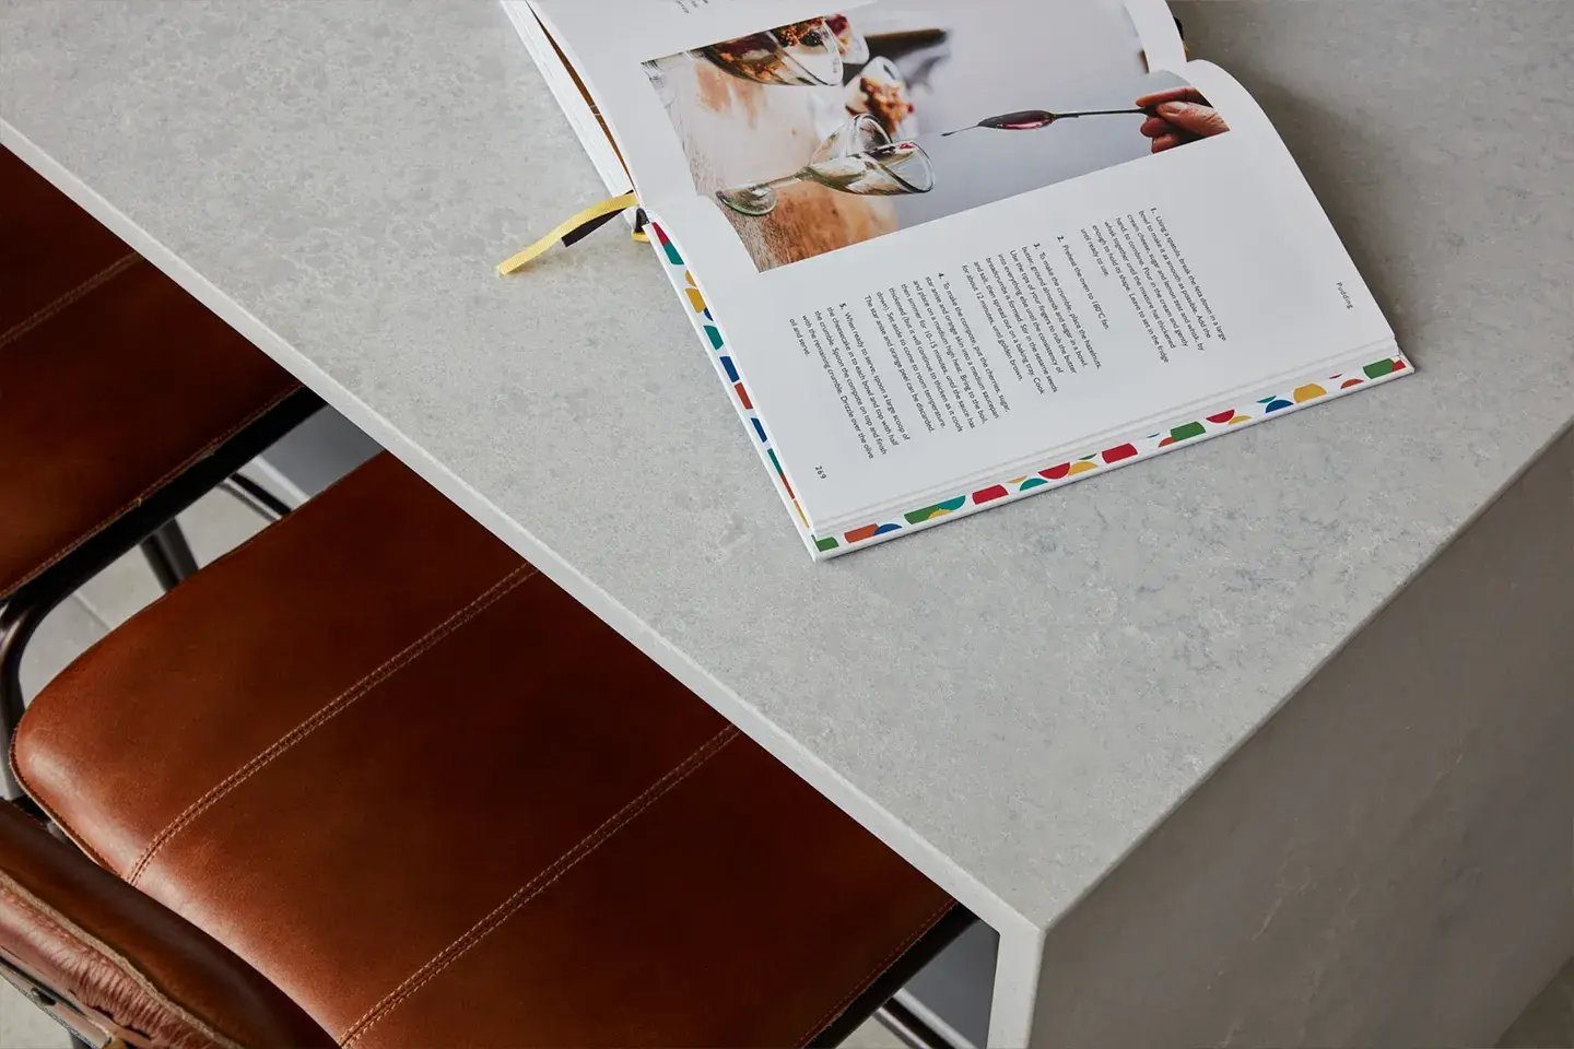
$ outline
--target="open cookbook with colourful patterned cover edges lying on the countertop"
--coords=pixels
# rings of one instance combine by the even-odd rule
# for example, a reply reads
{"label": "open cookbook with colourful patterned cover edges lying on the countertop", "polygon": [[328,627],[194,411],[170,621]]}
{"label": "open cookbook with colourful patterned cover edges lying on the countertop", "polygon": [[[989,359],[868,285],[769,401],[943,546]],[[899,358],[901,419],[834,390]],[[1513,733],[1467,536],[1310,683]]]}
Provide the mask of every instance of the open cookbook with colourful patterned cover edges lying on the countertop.
{"label": "open cookbook with colourful patterned cover edges lying on the countertop", "polygon": [[815,558],[1409,374],[1162,0],[505,0]]}

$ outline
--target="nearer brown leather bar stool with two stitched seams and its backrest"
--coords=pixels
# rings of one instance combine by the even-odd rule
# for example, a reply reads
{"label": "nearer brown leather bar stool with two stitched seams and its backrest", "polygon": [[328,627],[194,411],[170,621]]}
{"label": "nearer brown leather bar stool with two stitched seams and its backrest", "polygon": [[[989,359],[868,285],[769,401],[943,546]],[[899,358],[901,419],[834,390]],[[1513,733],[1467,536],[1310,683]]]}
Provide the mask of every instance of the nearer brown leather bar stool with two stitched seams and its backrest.
{"label": "nearer brown leather bar stool with two stitched seams and its backrest", "polygon": [[68,667],[13,763],[102,871],[0,821],[0,947],[131,1044],[829,1043],[970,917],[386,455]]}

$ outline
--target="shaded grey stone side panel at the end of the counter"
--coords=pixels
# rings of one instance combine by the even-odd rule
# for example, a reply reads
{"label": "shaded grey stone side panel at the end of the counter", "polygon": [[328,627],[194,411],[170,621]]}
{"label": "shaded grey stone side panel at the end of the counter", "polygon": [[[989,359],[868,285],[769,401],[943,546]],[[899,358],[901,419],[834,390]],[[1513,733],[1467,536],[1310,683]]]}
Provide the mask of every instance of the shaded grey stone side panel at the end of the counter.
{"label": "shaded grey stone side panel at the end of the counter", "polygon": [[1571,835],[1565,434],[1050,931],[1039,1044],[1492,1044],[1574,953]]}

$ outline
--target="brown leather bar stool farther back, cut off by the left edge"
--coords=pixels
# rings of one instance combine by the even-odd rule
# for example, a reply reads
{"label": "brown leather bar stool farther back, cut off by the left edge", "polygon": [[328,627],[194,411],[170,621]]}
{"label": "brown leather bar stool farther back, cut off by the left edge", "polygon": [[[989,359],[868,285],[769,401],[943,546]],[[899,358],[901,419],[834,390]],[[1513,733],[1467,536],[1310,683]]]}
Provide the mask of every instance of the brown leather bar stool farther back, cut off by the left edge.
{"label": "brown leather bar stool farther back, cut off by the left edge", "polygon": [[0,728],[60,601],[321,403],[14,154],[0,149]]}

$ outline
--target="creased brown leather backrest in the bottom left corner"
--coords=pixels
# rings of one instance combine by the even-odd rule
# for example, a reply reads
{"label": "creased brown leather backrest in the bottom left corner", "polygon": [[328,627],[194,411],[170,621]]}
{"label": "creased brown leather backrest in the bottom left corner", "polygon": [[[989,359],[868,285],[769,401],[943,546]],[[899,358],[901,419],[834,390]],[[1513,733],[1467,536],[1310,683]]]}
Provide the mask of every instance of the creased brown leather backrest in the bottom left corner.
{"label": "creased brown leather backrest in the bottom left corner", "polygon": [[334,1044],[228,948],[5,802],[0,963],[90,1043]]}

